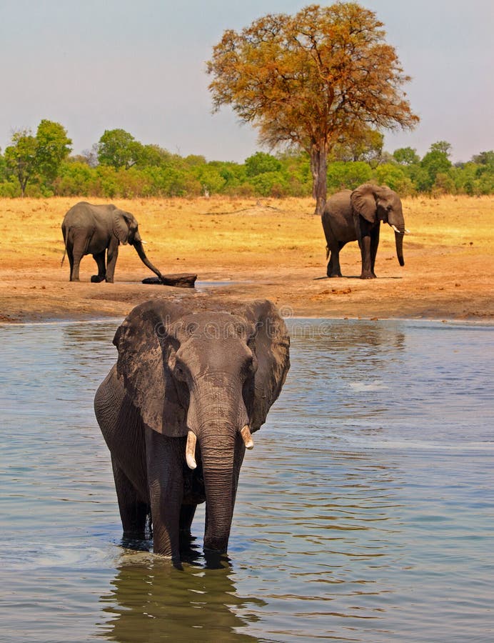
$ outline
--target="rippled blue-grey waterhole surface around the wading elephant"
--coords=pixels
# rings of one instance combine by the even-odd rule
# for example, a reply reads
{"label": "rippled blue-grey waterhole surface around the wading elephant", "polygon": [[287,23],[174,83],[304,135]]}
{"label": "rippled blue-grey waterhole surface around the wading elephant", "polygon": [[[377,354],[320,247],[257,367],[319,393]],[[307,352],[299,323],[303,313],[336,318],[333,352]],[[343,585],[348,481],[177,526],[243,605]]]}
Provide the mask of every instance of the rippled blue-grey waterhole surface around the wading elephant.
{"label": "rippled blue-grey waterhole surface around the wading elephant", "polygon": [[229,559],[129,549],[94,419],[118,322],[0,327],[0,639],[492,641],[494,329],[292,320]]}

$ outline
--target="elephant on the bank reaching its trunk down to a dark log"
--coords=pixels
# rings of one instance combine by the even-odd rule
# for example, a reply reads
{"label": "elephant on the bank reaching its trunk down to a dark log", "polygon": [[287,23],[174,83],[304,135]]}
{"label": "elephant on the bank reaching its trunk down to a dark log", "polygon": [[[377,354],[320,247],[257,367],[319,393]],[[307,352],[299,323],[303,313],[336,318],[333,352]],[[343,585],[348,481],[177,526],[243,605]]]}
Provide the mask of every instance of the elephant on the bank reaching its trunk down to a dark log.
{"label": "elephant on the bank reaching its trunk down to a dark log", "polygon": [[137,221],[130,212],[111,204],[91,205],[81,201],[64,216],[61,228],[69,256],[70,281],[79,281],[81,259],[85,254],[92,254],[98,274],[91,276],[91,281],[113,283],[120,244],[133,246],[143,264],[162,278],[161,272],[151,264],[143,250]]}

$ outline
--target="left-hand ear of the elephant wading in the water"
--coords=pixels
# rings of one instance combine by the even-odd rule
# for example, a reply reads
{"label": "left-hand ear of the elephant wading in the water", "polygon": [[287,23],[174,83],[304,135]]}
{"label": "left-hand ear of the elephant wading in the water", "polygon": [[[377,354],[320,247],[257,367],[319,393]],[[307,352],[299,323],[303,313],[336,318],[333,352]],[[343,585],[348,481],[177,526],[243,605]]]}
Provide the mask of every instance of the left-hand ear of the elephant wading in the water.
{"label": "left-hand ear of the elephant wading in the water", "polygon": [[168,367],[173,352],[170,328],[184,314],[177,304],[146,301],[136,306],[117,329],[117,375],[126,393],[153,431],[168,437],[187,434],[186,412]]}

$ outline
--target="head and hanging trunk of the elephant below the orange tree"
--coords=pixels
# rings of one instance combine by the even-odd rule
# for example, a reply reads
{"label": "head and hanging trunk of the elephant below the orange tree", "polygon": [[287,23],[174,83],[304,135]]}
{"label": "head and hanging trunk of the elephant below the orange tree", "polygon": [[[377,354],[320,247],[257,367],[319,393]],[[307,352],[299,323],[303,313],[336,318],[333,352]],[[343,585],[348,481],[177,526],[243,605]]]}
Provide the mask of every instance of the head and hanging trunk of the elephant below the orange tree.
{"label": "head and hanging trunk of the elephant below the orange tree", "polygon": [[388,186],[378,186],[364,183],[351,194],[351,204],[354,212],[363,216],[370,224],[376,221],[384,221],[395,231],[396,254],[400,266],[403,261],[403,234],[405,221],[403,219],[403,208],[401,199],[396,192]]}

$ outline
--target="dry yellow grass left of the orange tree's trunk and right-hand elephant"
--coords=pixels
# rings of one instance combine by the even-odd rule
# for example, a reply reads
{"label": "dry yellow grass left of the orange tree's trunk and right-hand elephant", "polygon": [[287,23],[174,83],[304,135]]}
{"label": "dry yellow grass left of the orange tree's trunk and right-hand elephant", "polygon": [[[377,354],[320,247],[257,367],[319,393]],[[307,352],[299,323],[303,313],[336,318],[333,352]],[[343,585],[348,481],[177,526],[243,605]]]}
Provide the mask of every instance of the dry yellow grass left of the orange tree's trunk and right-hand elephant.
{"label": "dry yellow grass left of the orange tree's trunk and right-hand elephant", "polygon": [[[0,199],[5,248],[0,266],[20,257],[25,265],[36,266],[61,259],[61,221],[77,200]],[[256,199],[119,199],[116,204],[136,216],[151,260],[171,268],[177,261],[216,266],[218,259],[221,265],[245,261],[269,265],[272,253],[296,254],[309,251],[317,237],[316,243],[321,242],[321,224],[311,215],[309,200],[263,199],[258,204]],[[88,261],[84,260],[83,269]],[[135,262],[139,263],[136,254],[121,248],[117,265],[122,268]]]}

